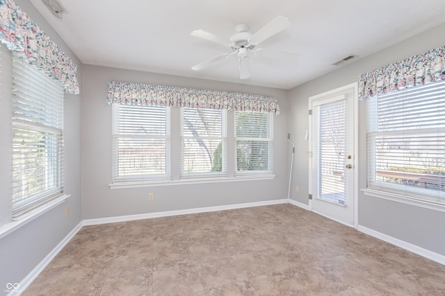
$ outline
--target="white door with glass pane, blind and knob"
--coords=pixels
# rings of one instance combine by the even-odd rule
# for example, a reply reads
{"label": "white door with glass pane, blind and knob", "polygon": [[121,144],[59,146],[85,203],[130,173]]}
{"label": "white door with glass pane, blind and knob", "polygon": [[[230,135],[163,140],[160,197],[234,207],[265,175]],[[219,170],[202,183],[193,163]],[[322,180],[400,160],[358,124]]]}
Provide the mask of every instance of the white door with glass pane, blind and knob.
{"label": "white door with glass pane, blind and knob", "polygon": [[356,99],[357,83],[309,98],[309,209],[353,227]]}

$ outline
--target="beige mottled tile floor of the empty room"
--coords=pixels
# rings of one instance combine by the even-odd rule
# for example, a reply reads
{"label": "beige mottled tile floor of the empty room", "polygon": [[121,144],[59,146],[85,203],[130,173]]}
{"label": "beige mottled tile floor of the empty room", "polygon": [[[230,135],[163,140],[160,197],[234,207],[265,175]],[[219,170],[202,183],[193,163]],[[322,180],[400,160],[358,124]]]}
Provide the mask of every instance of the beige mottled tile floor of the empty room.
{"label": "beige mottled tile floor of the empty room", "polygon": [[83,227],[23,295],[445,295],[445,266],[279,204]]}

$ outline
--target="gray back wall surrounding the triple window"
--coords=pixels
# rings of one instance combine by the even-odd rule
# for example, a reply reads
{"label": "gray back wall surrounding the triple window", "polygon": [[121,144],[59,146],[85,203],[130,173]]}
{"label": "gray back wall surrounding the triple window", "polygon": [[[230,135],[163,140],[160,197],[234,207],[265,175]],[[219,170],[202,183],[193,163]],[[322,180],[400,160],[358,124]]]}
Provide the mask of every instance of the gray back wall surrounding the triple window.
{"label": "gray back wall surrounding the triple window", "polygon": [[[108,184],[111,184],[112,164],[111,106],[106,104],[106,96],[108,82],[111,80],[275,96],[282,110],[282,114],[274,115],[275,141],[273,150],[275,157],[273,164],[277,177],[274,180],[261,181],[110,189]],[[287,92],[280,89],[84,65],[82,102],[83,218],[149,214],[287,198],[287,180],[289,180],[288,145],[286,142],[287,109]],[[179,112],[172,110],[172,116],[179,116]],[[178,129],[173,129],[172,132],[175,130]],[[172,147],[173,149],[175,147]],[[153,201],[148,201],[148,193],[154,193]]]}

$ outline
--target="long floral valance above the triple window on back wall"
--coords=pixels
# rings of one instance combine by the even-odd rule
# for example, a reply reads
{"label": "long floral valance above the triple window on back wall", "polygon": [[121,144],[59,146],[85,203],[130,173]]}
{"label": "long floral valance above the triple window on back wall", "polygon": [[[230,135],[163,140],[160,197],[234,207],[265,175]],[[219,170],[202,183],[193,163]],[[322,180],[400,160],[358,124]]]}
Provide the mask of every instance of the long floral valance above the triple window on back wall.
{"label": "long floral valance above the triple window on back wall", "polygon": [[106,101],[108,104],[202,107],[280,114],[277,99],[271,96],[127,82],[109,82]]}

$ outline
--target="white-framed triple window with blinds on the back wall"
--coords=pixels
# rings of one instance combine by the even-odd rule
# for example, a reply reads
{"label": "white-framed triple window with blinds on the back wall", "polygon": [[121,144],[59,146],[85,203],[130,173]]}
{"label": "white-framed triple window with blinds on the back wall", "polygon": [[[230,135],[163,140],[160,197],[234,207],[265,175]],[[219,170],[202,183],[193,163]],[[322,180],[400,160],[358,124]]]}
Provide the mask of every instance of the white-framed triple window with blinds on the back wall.
{"label": "white-framed triple window with blinds on the back wall", "polygon": [[272,113],[118,103],[112,110],[111,188],[275,177]]}

